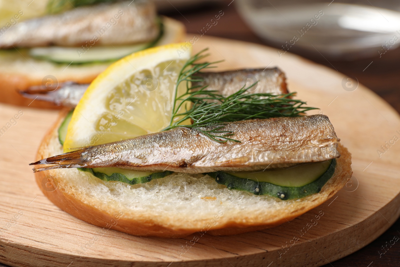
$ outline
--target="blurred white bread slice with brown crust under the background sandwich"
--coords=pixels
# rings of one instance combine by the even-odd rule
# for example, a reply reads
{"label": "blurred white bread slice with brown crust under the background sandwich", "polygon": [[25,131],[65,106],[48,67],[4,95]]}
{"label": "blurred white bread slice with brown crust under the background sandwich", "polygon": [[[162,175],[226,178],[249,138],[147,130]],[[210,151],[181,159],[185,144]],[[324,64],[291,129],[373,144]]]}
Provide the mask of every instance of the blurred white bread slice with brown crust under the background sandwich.
{"label": "blurred white bread slice with brown crust under the background sandwich", "polygon": [[[182,42],[185,26],[172,18],[162,17],[164,34],[157,45]],[[112,62],[93,64],[58,64],[38,60],[16,50],[0,50],[0,102],[40,108],[60,108],[50,102],[24,98],[18,91],[42,84],[44,77],[52,75],[58,82],[90,83]],[[30,104],[32,102],[32,104]]]}

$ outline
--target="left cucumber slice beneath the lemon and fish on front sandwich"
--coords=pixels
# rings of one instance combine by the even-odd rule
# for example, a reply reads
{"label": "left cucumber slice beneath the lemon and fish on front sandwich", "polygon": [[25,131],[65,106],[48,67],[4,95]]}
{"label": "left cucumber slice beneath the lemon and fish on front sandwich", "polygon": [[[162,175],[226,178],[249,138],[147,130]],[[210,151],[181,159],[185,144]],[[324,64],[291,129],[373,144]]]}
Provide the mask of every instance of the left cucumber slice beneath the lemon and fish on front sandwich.
{"label": "left cucumber slice beneath the lemon and fish on front sandwich", "polygon": [[[74,110],[71,110],[67,116],[65,116],[60,127],[58,128],[58,140],[60,141],[61,145],[64,145],[68,124],[70,124],[72,113],[74,113]],[[153,179],[163,178],[172,173],[172,171],[164,171],[163,173],[148,173],[140,171],[128,171],[120,168],[78,168],[78,170],[92,173],[92,175],[102,179],[103,181],[119,181],[130,185],[147,183]]]}

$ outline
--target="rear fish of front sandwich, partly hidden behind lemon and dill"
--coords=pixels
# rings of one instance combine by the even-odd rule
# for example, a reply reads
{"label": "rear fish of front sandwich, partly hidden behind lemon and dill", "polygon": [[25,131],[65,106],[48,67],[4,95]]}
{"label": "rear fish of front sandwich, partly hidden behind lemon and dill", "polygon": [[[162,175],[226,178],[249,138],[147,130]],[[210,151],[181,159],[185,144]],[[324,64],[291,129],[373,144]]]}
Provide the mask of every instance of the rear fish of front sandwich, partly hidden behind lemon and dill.
{"label": "rear fish of front sandwich, partly hidden behind lemon and dill", "polygon": [[[204,79],[203,82],[193,82],[192,86],[201,88],[208,84],[206,90],[216,90],[223,96],[228,96],[237,92],[246,82],[247,79],[257,80],[258,83],[249,89],[250,92],[271,93],[271,94],[287,94],[285,75],[278,68],[264,68],[254,70],[234,70],[224,72],[203,72],[196,76]],[[246,82],[244,82],[246,81]],[[79,84],[72,86],[72,82],[60,84],[57,90],[48,92],[47,88],[39,90],[37,86],[33,86],[21,94],[27,98],[45,100],[53,102],[59,106],[76,106],[82,98],[89,84]]]}

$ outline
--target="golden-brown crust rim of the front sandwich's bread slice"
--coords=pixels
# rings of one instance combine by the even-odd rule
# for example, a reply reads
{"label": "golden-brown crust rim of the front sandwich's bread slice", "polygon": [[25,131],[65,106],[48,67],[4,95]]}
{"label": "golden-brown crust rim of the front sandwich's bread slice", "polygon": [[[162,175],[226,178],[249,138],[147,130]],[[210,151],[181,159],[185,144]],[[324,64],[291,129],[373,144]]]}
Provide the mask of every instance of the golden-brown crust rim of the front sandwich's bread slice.
{"label": "golden-brown crust rim of the front sandwich's bread slice", "polygon": [[[52,143],[54,145],[54,140],[58,140],[58,127],[67,112],[68,110],[62,110],[60,112],[58,121],[44,137],[39,147],[36,160],[40,160],[49,156],[49,150],[52,146]],[[207,233],[210,233],[211,235],[234,235],[275,227],[285,223],[286,221],[290,221],[302,215],[303,213],[306,213],[310,209],[313,209],[314,207],[324,203],[333,195],[335,195],[352,175],[350,153],[342,145],[339,145],[338,150],[341,153],[341,157],[337,159],[335,173],[333,177],[322,187],[320,193],[304,197],[301,199],[301,201],[286,201],[286,203],[288,203],[288,207],[280,210],[279,216],[268,217],[268,215],[265,215],[265,220],[258,222],[254,222],[252,220],[246,221],[242,220],[242,218],[240,220],[236,219],[224,221],[211,227],[210,229],[207,229]],[[96,199],[92,200],[93,202],[88,204],[79,199],[79,196],[76,195],[79,194],[78,192],[67,192],[67,190],[65,190],[66,185],[62,184],[62,178],[58,177],[60,172],[57,171],[60,170],[50,170],[35,173],[36,182],[38,183],[40,189],[44,195],[46,195],[46,197],[48,197],[48,199],[50,199],[50,201],[52,201],[60,209],[92,225],[129,233],[132,235],[168,238],[185,237],[191,233],[202,231],[203,229],[204,222],[192,224],[192,227],[184,227],[184,224],[180,222],[182,219],[179,218],[170,219],[170,221],[160,223],[159,221],[156,221],[156,214],[150,215],[150,219],[148,214],[146,218],[143,218],[140,215],[137,217],[122,216],[118,218],[118,223],[116,223],[115,209],[111,210],[110,208],[110,210],[106,211],[104,211],[104,209],[101,210],[97,208],[100,205],[95,202]],[[44,190],[42,187],[42,181],[45,179],[45,177],[48,177],[48,175],[51,175],[51,177],[54,177],[58,180],[58,187],[55,191],[49,192]],[[254,198],[257,197],[260,196],[254,195]],[[154,220],[151,219],[152,216],[154,217]]]}

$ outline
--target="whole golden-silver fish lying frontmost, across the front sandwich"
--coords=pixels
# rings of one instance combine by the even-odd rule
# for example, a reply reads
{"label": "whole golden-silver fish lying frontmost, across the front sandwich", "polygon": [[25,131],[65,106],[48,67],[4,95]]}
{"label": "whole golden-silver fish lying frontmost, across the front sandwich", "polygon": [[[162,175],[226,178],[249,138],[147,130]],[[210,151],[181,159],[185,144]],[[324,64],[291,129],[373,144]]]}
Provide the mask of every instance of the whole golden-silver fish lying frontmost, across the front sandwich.
{"label": "whole golden-silver fish lying frontmost, across the front sandwich", "polygon": [[340,139],[327,116],[312,115],[244,120],[225,124],[240,141],[219,143],[192,128],[174,128],[134,139],[88,147],[42,159],[34,168],[118,167],[132,171],[207,173],[258,171],[340,156]]}

